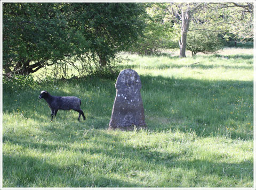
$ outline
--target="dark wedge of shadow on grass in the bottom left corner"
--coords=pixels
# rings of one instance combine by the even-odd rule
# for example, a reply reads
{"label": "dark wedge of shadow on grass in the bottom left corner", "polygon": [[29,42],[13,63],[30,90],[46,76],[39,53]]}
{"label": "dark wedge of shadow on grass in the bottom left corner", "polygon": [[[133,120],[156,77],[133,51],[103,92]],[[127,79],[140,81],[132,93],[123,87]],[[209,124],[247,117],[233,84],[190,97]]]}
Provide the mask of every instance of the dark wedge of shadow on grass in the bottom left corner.
{"label": "dark wedge of shadow on grass in the bottom left corner", "polygon": [[[86,163],[86,161],[85,161]],[[31,156],[3,155],[3,181],[12,176],[13,185],[3,187],[135,187],[138,183],[91,174],[76,163],[59,166]],[[15,168],[13,168],[15,166]],[[77,174],[79,172],[79,175]],[[76,177],[75,177],[76,176]]]}

